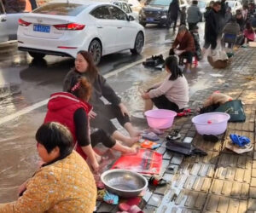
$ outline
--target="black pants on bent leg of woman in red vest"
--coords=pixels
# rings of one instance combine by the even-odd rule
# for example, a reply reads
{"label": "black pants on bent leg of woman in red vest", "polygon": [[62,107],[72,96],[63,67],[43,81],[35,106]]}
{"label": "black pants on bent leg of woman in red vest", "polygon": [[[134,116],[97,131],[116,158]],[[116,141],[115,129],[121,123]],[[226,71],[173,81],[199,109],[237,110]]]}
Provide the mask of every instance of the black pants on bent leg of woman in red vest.
{"label": "black pants on bent leg of woman in red vest", "polygon": [[99,143],[102,143],[105,147],[112,148],[116,141],[106,131],[96,130],[90,134],[90,144],[91,147],[96,147]]}

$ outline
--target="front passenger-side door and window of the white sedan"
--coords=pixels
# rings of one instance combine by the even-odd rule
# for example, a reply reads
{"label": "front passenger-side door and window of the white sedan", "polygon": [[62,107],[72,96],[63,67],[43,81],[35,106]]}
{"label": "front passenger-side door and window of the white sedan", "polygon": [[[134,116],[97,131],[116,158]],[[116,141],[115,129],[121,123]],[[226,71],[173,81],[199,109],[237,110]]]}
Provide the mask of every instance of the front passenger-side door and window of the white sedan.
{"label": "front passenger-side door and window of the white sedan", "polygon": [[115,6],[109,6],[113,16],[117,32],[116,45],[118,50],[129,49],[131,43],[134,43],[137,28],[128,20],[128,15],[122,9]]}

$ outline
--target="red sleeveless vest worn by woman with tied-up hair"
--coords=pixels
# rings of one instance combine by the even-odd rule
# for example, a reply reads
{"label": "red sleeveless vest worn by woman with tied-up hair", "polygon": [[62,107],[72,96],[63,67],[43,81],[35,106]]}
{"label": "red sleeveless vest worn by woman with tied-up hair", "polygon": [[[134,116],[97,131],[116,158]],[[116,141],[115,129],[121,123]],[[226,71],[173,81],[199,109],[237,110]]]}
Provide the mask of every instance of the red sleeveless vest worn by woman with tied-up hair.
{"label": "red sleeveless vest worn by woman with tied-up hair", "polygon": [[[67,126],[73,135],[74,144],[77,141],[76,127],[73,120],[73,114],[79,108],[84,108],[84,111],[88,114],[92,107],[90,104],[80,101],[75,95],[67,92],[59,92],[50,95],[48,102],[48,111],[44,118],[44,123],[58,122]],[[88,128],[89,130],[89,128]],[[87,156],[84,154],[82,148],[77,144],[76,151],[86,159]]]}

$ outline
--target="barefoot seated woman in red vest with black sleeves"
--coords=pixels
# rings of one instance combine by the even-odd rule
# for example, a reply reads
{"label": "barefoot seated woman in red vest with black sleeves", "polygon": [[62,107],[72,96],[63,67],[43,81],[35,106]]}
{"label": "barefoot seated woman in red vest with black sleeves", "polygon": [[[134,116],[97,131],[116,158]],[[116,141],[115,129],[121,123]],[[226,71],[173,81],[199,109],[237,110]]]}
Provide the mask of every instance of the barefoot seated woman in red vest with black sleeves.
{"label": "barefoot seated woman in red vest with black sleeves", "polygon": [[90,98],[91,86],[86,78],[73,78],[70,93],[60,92],[50,95],[48,112],[44,123],[51,121],[66,125],[71,131],[76,150],[84,158],[89,158],[93,170],[98,170],[101,157],[92,149],[101,143],[122,153],[136,153],[136,150],[113,140],[104,130],[95,130],[90,134],[88,115],[92,107],[86,102]]}

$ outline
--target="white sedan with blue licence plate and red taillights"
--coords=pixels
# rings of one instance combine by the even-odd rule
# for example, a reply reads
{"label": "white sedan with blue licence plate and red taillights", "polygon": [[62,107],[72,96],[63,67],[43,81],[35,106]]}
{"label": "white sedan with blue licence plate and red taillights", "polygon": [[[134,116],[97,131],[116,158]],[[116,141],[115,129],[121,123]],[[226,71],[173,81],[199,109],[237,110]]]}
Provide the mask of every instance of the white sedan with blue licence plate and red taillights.
{"label": "white sedan with blue licence plate and red taillights", "polygon": [[144,29],[111,3],[58,1],[25,14],[19,21],[18,49],[34,58],[44,55],[76,57],[81,49],[97,63],[102,55],[124,49],[141,53]]}

